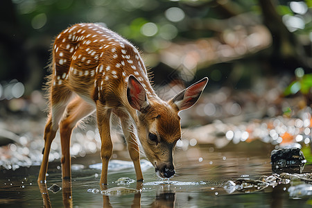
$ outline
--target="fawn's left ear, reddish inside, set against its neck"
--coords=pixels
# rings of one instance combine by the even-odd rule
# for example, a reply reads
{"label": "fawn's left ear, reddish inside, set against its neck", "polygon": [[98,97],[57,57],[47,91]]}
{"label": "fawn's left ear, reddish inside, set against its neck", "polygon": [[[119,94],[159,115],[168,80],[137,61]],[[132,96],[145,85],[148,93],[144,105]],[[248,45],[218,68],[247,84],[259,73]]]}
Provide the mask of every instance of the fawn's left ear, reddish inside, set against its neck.
{"label": "fawn's left ear, reddish inside, set against its neck", "polygon": [[149,105],[144,87],[132,75],[128,78],[127,97],[131,107],[140,112],[144,112]]}

